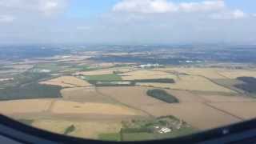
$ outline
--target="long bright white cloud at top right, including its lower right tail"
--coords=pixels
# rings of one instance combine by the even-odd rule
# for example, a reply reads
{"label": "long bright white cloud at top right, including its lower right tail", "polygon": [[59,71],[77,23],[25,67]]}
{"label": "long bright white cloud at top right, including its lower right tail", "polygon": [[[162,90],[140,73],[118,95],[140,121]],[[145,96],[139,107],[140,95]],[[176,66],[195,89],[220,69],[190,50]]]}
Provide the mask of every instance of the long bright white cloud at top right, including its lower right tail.
{"label": "long bright white cloud at top right, including its lower right tail", "polygon": [[252,16],[242,10],[232,10],[223,0],[201,2],[172,2],[168,0],[122,0],[113,7],[115,13],[138,14],[192,14],[213,19],[240,19]]}

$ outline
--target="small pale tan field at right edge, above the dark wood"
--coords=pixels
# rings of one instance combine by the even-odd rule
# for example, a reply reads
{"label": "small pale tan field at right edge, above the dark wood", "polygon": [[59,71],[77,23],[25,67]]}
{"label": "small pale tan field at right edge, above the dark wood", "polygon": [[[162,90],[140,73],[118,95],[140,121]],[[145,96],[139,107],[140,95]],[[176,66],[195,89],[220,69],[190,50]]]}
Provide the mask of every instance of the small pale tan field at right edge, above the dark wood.
{"label": "small pale tan field at right edge, above the dark wood", "polygon": [[256,78],[256,71],[254,70],[227,70],[222,71],[220,74],[224,75],[226,78],[235,79],[238,77],[254,77]]}

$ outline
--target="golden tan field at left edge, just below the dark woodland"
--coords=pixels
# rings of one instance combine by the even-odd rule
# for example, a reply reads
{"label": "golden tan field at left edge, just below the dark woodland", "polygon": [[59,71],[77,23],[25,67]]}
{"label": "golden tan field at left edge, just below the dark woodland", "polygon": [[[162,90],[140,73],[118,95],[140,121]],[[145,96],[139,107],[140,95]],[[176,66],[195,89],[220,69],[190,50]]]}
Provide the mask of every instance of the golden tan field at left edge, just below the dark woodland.
{"label": "golden tan field at left edge, just below the dark woodland", "polygon": [[33,99],[0,102],[1,114],[40,113],[46,111],[53,100]]}

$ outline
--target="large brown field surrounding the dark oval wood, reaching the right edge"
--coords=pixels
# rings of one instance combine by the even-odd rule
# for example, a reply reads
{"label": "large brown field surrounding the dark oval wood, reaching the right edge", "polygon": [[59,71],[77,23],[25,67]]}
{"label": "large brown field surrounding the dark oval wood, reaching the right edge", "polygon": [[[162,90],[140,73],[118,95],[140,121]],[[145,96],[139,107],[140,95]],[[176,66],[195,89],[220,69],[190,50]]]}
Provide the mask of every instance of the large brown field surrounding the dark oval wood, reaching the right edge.
{"label": "large brown field surrounding the dark oval wood, reaching the right edge", "polygon": [[[186,90],[166,90],[179,99],[178,104],[167,104],[146,95],[146,87],[102,87],[98,91],[102,94],[112,95],[119,102],[143,110],[147,114],[159,117],[163,115],[174,115],[181,118],[199,130],[207,130],[218,126],[225,126],[235,122],[242,122],[236,115],[225,112],[222,109],[210,106],[211,103],[239,102],[246,105],[247,102],[254,102],[253,98],[241,96],[221,96],[193,94]],[[136,99],[136,101],[134,101]],[[237,107],[239,110],[243,110]],[[248,112],[249,114],[249,112]],[[251,113],[250,118],[256,117]]]}

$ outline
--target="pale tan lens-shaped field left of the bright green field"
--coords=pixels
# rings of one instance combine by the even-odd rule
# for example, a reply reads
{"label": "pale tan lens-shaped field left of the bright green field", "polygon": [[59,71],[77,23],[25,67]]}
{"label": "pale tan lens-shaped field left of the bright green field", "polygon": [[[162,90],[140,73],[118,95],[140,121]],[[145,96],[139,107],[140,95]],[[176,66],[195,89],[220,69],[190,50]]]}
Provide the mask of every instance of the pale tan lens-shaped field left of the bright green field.
{"label": "pale tan lens-shaped field left of the bright green field", "polygon": [[89,82],[72,76],[62,76],[39,83],[44,85],[54,85],[62,87],[91,86]]}

